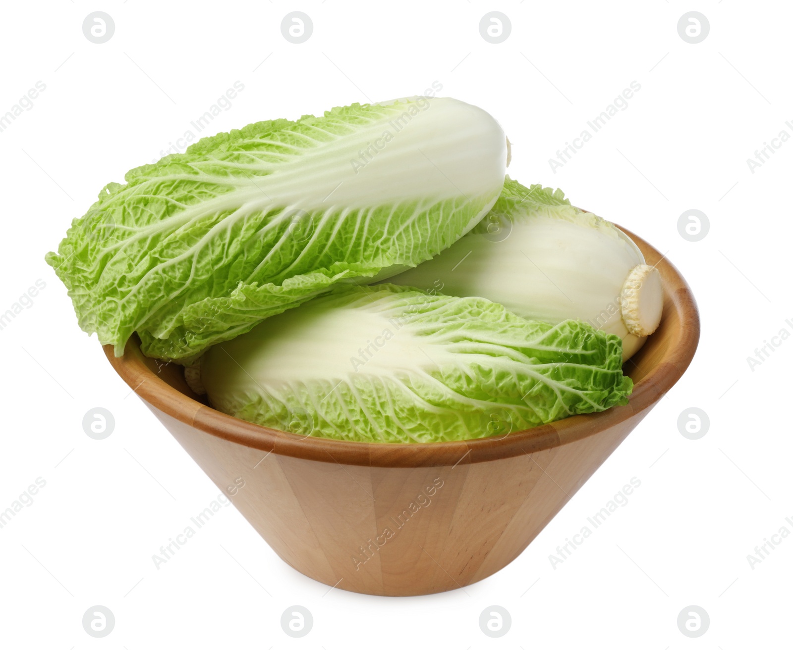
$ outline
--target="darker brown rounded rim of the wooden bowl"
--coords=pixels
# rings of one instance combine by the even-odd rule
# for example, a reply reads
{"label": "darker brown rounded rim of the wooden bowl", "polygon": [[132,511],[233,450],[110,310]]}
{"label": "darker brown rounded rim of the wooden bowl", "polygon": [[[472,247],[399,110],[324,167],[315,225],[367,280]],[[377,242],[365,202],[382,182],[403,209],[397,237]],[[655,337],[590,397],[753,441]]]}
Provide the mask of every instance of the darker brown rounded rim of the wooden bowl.
{"label": "darker brown rounded rim of the wooden bowl", "polygon": [[[634,416],[641,419],[675,385],[696,352],[699,312],[688,283],[665,255],[661,255],[630,230],[619,227],[638,245],[646,263],[655,266],[661,273],[664,314],[659,330],[671,320],[672,312],[675,312],[678,317],[677,328],[668,333],[672,343],[650,371],[634,382],[634,391],[627,405],[598,413],[570,416],[552,424],[514,431],[508,435],[439,443],[362,443],[277,431],[239,420],[202,404],[186,394],[191,393],[186,385],[182,386],[182,390],[171,386],[158,376],[160,367],[168,364],[147,359],[140,352],[137,336],[128,341],[125,354],[121,357],[113,354],[113,345],[103,347],[114,370],[138,397],[150,408],[156,409],[156,415],[159,416],[157,411],[162,412],[191,428],[245,447],[341,465],[404,468],[456,466],[458,463],[469,464],[531,454],[595,435]],[[642,350],[636,356],[641,355]],[[629,359],[626,363],[634,362]],[[638,369],[635,363],[634,367]]]}

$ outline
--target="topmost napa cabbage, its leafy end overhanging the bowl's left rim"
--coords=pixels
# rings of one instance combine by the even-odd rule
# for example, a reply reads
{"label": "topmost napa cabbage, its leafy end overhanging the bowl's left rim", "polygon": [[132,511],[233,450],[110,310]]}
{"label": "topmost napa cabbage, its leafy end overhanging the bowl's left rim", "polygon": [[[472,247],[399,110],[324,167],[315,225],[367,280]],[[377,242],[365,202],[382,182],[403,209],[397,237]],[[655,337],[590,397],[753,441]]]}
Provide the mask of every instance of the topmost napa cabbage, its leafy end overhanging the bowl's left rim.
{"label": "topmost napa cabbage, its leafy end overhanging the bowl's left rim", "polygon": [[117,355],[192,363],[336,283],[430,259],[504,184],[480,108],[417,97],[249,124],[110,183],[47,261]]}

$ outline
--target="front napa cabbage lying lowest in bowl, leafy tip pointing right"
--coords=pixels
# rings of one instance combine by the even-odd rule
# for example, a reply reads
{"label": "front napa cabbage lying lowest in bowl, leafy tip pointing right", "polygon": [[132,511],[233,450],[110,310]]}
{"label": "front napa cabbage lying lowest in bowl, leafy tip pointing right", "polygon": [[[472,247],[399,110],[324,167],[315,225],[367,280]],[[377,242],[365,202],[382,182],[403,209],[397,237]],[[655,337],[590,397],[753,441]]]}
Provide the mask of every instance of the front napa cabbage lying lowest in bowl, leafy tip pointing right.
{"label": "front napa cabbage lying lowest in bowl, leafy tip pointing right", "polygon": [[201,357],[212,405],[301,435],[429,443],[626,404],[619,336],[485,298],[335,287]]}

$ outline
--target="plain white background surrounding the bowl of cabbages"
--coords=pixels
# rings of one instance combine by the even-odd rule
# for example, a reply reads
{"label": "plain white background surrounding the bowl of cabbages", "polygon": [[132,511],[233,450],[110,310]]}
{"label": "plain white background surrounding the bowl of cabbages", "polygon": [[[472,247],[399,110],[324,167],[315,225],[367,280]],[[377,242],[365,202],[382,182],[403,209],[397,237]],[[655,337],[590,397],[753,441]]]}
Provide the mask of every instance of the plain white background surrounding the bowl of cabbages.
{"label": "plain white background surrounding the bowl of cabbages", "polygon": [[[115,22],[105,44],[82,32],[96,10]],[[281,33],[293,10],[313,22],[303,44]],[[501,44],[480,36],[491,10],[511,21]],[[691,10],[710,22],[699,44],[677,31]],[[793,532],[793,340],[753,370],[747,357],[793,333],[793,142],[754,173],[746,159],[793,135],[791,19],[789,3],[735,0],[4,4],[0,114],[37,81],[46,89],[0,132],[0,312],[36,279],[46,288],[0,330],[0,510],[36,477],[46,486],[0,529],[0,646],[790,647],[793,536],[753,568],[747,555],[781,526]],[[243,92],[202,135],[438,81],[500,120],[512,177],[561,187],[641,234],[691,284],[703,332],[689,371],[495,576],[417,598],[328,591],[233,507],[155,568],[152,554],[219,491],[80,332],[44,253],[105,183],[159,158],[238,80]],[[548,159],[632,81],[629,107],[554,173]],[[679,234],[689,209],[709,217],[701,241]],[[102,441],[82,430],[97,406],[116,421]],[[693,441],[677,426],[692,406],[710,417]],[[552,568],[550,553],[631,477],[642,484],[628,504]],[[82,629],[97,604],[116,618],[104,639]],[[302,639],[280,625],[294,604],[314,618]],[[500,639],[479,629],[491,605],[511,613]],[[711,619],[697,639],[676,623],[690,605]]]}

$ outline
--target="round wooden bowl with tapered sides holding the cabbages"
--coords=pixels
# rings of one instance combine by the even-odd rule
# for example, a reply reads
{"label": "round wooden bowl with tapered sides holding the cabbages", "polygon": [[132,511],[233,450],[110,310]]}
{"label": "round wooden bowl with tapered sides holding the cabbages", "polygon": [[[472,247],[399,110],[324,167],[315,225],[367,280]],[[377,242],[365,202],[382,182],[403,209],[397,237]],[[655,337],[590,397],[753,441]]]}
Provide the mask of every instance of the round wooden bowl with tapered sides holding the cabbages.
{"label": "round wooden bowl with tapered sides holding the cabbages", "polygon": [[[626,231],[627,232],[627,231]],[[131,340],[105,354],[174,438],[282,559],[306,576],[376,595],[465,587],[504,568],[584,485],[688,367],[699,314],[685,280],[636,241],[664,284],[657,332],[626,362],[630,403],[452,443],[348,443],[225,415]]]}

